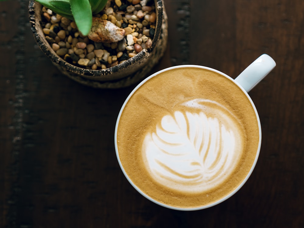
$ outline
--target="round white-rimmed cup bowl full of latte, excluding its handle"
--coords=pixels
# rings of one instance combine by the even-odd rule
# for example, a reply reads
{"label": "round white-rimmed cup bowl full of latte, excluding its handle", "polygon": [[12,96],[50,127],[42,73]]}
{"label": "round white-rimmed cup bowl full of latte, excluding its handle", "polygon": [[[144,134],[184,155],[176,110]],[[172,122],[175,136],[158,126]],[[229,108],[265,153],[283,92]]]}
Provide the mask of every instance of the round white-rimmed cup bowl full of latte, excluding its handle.
{"label": "round white-rimmed cup bowl full of latte, excluding its handle", "polygon": [[247,92],[209,67],[181,65],[142,81],[116,122],[115,149],[131,185],[176,210],[214,206],[247,181],[261,123]]}

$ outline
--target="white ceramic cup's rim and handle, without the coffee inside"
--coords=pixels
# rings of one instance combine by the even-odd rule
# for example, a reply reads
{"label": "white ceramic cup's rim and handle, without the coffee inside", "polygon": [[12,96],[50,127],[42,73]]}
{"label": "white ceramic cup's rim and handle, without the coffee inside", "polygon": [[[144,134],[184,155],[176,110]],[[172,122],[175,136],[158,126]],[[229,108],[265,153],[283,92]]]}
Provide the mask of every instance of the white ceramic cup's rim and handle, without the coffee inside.
{"label": "white ceramic cup's rim and handle, without the coffee inside", "polygon": [[[166,68],[164,70],[158,71],[155,74],[152,74],[150,77],[146,78],[145,80],[143,80],[139,85],[136,86],[136,88],[134,88],[134,90],[130,93],[130,95],[126,98],[126,101],[124,102],[118,118],[117,118],[117,122],[116,122],[116,127],[115,127],[115,150],[116,150],[116,156],[120,165],[121,170],[123,171],[123,174],[126,176],[127,180],[130,182],[130,184],[144,197],[146,197],[147,199],[149,199],[150,201],[164,206],[166,208],[170,208],[170,209],[175,209],[175,210],[184,210],[184,211],[191,211],[191,210],[200,210],[200,209],[206,209],[212,206],[215,206],[217,204],[219,204],[220,202],[225,201],[226,199],[230,198],[232,195],[234,195],[244,184],[245,182],[248,180],[248,178],[250,177],[256,163],[257,163],[257,159],[259,157],[259,153],[260,153],[260,148],[261,148],[261,123],[260,123],[260,119],[257,113],[257,109],[254,105],[254,103],[252,102],[250,96],[248,95],[248,92],[254,88],[255,85],[257,85],[258,82],[260,82],[274,67],[275,67],[275,61],[267,54],[263,54],[260,57],[258,57],[252,64],[250,64],[237,78],[235,78],[234,80],[232,78],[230,78],[228,75],[217,71],[215,69],[209,68],[209,67],[203,67],[203,66],[197,66],[197,65],[180,65],[180,66],[174,66],[174,67],[169,67]],[[196,207],[196,208],[180,208],[180,207],[173,207],[173,206],[169,206],[166,205],[164,203],[158,202],[155,199],[152,199],[151,197],[147,196],[144,192],[142,192],[133,182],[132,180],[129,178],[129,176],[127,175],[126,171],[123,168],[122,162],[120,161],[119,158],[119,152],[118,152],[118,146],[117,146],[117,130],[118,130],[118,123],[119,123],[119,119],[120,116],[123,112],[123,109],[126,105],[126,103],[128,102],[128,100],[130,99],[130,97],[133,95],[133,93],[141,86],[143,85],[146,81],[148,81],[150,78],[164,72],[164,71],[168,71],[174,68],[180,68],[180,67],[198,67],[198,68],[203,68],[203,69],[208,69],[210,71],[214,71],[216,73],[219,73],[223,76],[225,76],[226,78],[230,79],[231,81],[234,81],[234,83],[236,85],[238,85],[238,87],[240,87],[240,89],[244,92],[244,94],[247,96],[247,98],[249,99],[249,101],[251,102],[252,107],[254,108],[255,114],[256,114],[256,118],[257,118],[257,122],[258,122],[258,128],[259,128],[259,143],[258,143],[258,149],[257,149],[257,153],[256,153],[256,157],[254,160],[254,163],[251,166],[251,169],[249,171],[249,173],[247,174],[246,178],[238,185],[237,188],[235,188],[235,190],[233,190],[233,192],[231,192],[230,194],[226,195],[224,198],[217,200],[216,202],[213,202],[209,205],[206,206],[200,206],[200,207]]]}

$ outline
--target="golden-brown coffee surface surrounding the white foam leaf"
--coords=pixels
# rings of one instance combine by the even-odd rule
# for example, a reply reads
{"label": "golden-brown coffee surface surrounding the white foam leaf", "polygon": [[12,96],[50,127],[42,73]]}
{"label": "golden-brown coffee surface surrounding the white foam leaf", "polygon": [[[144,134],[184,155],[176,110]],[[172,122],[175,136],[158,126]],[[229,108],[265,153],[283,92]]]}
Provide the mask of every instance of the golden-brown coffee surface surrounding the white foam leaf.
{"label": "golden-brown coffee surface surrounding the white foam leaf", "polygon": [[[236,126],[240,126],[237,128],[241,131],[238,137],[242,140],[242,150],[233,170],[227,172],[228,177],[201,191],[184,191],[155,181],[147,169],[143,142],[147,132],[156,132],[155,126],[164,116],[174,116],[176,111],[193,111],[181,104],[195,99],[211,100],[231,111],[237,119]],[[212,112],[207,116],[217,116]],[[182,208],[206,206],[237,188],[254,163],[258,144],[257,117],[244,92],[223,75],[196,67],[171,69],[146,81],[127,102],[117,129],[119,158],[133,183],[152,199]]]}

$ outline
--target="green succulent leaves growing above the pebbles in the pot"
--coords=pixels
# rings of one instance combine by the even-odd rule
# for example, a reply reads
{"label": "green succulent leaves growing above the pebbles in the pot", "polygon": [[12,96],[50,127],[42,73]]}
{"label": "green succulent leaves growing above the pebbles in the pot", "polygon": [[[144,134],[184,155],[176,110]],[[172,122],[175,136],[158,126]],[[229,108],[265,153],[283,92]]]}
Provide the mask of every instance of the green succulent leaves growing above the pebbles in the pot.
{"label": "green succulent leaves growing above the pebbles in the pot", "polygon": [[35,0],[53,12],[74,20],[78,30],[87,36],[92,27],[92,15],[105,7],[107,0]]}

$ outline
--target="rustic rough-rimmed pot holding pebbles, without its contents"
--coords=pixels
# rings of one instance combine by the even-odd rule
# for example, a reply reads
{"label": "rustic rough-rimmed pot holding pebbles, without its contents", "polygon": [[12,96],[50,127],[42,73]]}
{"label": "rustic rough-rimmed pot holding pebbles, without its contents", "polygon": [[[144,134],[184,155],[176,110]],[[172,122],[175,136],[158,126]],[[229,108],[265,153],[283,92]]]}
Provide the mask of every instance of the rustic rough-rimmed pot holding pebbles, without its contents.
{"label": "rustic rough-rimmed pot holding pebbles, without its contents", "polygon": [[162,0],[154,0],[154,2],[157,19],[152,46],[143,49],[125,62],[104,70],[83,69],[59,57],[45,39],[41,26],[41,5],[34,0],[29,1],[29,21],[38,46],[64,75],[95,88],[122,88],[145,78],[166,49],[168,37],[166,12]]}

